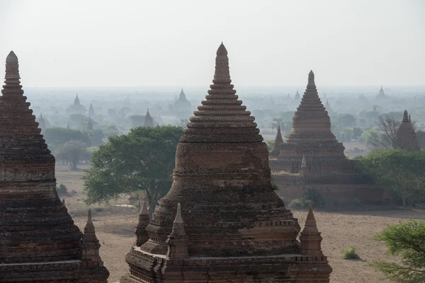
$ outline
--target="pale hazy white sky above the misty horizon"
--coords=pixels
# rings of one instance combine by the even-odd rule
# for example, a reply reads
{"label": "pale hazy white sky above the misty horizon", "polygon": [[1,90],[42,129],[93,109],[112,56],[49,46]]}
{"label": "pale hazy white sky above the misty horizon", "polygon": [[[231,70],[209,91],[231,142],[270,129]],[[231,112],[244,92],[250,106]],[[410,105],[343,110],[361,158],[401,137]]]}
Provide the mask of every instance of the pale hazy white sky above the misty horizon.
{"label": "pale hazy white sky above the misty horizon", "polygon": [[425,84],[423,0],[0,0],[25,86],[208,88],[222,41],[236,86]]}

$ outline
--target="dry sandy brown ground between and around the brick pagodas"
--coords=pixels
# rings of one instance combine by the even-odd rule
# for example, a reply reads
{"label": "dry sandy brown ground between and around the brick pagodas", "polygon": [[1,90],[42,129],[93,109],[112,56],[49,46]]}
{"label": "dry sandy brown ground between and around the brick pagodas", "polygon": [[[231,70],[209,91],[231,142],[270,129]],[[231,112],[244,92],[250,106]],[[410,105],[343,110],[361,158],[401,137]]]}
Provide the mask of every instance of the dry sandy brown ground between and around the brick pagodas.
{"label": "dry sandy brown ground between and around the brick pagodas", "polygon": [[[58,170],[59,169],[59,170]],[[81,171],[61,171],[57,168],[57,182],[64,183],[77,194],[65,197],[67,207],[75,223],[84,229],[86,207],[81,189]],[[124,200],[121,200],[124,202]],[[94,207],[94,225],[96,235],[101,241],[101,257],[111,272],[109,282],[116,282],[125,274],[127,264],[125,254],[135,241],[133,234],[137,225],[137,209],[119,207]],[[96,211],[97,210],[97,211]],[[368,266],[375,260],[389,259],[385,246],[372,239],[386,224],[397,224],[409,219],[425,220],[422,210],[392,210],[380,212],[315,212],[319,230],[322,232],[322,248],[328,256],[334,272],[332,283],[388,282],[379,272]],[[304,226],[307,212],[294,211],[295,217]],[[362,260],[343,260],[342,253],[354,246]]]}

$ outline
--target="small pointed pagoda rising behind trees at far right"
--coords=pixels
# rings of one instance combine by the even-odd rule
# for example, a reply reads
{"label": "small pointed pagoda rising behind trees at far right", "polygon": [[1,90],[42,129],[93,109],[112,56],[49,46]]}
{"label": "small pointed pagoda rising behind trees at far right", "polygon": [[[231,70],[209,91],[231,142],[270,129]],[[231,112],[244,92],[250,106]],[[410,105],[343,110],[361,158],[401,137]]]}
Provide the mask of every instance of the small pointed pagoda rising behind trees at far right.
{"label": "small pointed pagoda rising behind trees at far right", "polygon": [[407,110],[404,110],[403,120],[397,129],[395,148],[408,151],[420,151],[419,139],[416,135],[412,120]]}

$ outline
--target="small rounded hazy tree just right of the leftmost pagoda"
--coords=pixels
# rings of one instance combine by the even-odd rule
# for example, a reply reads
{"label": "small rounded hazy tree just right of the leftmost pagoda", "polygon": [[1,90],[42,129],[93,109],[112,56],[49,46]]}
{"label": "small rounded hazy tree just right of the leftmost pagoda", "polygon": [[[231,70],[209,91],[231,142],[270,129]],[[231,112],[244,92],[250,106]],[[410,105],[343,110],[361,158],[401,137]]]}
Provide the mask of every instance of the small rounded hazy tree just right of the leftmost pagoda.
{"label": "small rounded hazy tree just right of the leftmost pagoda", "polygon": [[77,169],[79,161],[91,158],[91,152],[82,141],[71,140],[58,147],[56,158],[67,161],[72,169]]}

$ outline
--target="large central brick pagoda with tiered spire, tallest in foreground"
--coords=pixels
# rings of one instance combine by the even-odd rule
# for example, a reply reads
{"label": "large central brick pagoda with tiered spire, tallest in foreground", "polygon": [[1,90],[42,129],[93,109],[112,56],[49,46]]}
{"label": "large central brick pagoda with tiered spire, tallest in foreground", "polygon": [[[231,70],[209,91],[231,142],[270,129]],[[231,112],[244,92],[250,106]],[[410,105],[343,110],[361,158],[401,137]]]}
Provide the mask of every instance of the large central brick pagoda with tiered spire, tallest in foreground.
{"label": "large central brick pagoda with tiered spire, tallest in foreground", "polygon": [[327,257],[302,251],[317,239],[297,241],[300,225],[271,185],[267,146],[235,93],[220,45],[208,95],[177,146],[171,189],[149,224],[146,209],[140,217],[121,283],[329,282]]}

